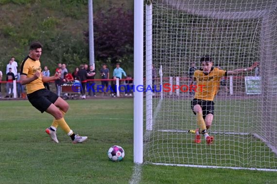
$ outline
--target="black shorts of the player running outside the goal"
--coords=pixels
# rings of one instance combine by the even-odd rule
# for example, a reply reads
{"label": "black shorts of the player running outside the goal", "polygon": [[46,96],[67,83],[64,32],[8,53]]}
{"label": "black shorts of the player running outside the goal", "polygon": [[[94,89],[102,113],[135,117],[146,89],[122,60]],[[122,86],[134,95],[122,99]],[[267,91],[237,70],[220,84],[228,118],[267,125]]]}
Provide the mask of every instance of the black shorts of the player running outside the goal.
{"label": "black shorts of the player running outside the goal", "polygon": [[46,89],[37,90],[27,94],[29,102],[41,113],[58,99],[58,95]]}

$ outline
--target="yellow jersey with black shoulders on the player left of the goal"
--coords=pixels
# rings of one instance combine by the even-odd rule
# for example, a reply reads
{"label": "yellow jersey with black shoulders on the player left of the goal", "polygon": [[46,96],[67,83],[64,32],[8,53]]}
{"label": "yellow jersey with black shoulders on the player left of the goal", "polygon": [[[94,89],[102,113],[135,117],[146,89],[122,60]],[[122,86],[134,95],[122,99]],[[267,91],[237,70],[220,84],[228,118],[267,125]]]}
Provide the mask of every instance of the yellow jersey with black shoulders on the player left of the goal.
{"label": "yellow jersey with black shoulders on the player left of the goal", "polygon": [[[20,66],[20,75],[26,75],[27,78],[33,77],[35,72],[41,72],[40,61],[33,60],[29,56],[27,56],[21,63]],[[27,94],[35,92],[40,89],[44,89],[44,85],[42,82],[42,77],[38,77],[33,80],[29,84],[26,84]]]}

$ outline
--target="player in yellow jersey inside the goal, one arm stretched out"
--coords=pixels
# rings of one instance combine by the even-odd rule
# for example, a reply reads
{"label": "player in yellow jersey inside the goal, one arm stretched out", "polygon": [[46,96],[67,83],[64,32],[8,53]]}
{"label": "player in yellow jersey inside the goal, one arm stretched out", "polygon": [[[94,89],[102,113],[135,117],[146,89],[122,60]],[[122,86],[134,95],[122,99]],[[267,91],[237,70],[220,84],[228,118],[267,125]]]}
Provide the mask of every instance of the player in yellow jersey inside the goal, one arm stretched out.
{"label": "player in yellow jersey inside the goal, one arm stretched out", "polygon": [[[191,101],[191,109],[196,115],[196,122],[199,128],[196,129],[195,143],[201,143],[201,134],[204,135],[207,144],[211,144],[213,137],[208,135],[208,129],[211,126],[214,112],[214,96],[216,95],[221,77],[228,75],[238,75],[243,72],[253,70],[257,62],[249,68],[241,68],[232,71],[225,71],[213,67],[210,56],[200,58],[201,69],[194,72],[194,81],[197,86],[203,86],[202,90],[195,93],[194,99]],[[193,81],[190,85],[193,84]],[[194,132],[194,131],[192,131]]]}

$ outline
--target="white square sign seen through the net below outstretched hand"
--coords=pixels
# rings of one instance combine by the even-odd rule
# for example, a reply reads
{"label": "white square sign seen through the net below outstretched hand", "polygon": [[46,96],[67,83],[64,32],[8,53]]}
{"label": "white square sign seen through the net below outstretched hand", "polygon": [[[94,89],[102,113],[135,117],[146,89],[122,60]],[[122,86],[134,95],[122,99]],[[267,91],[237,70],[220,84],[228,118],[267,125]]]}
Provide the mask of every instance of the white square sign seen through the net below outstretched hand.
{"label": "white square sign seen through the net below outstretched hand", "polygon": [[261,93],[261,77],[244,77],[246,94]]}

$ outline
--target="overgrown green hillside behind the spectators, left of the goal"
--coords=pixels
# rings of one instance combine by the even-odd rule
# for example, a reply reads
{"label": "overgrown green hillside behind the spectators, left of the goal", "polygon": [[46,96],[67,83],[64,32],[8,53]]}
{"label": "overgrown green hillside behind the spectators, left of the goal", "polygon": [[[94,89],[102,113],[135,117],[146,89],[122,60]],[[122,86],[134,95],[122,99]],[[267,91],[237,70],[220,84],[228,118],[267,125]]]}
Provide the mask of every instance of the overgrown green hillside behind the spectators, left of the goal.
{"label": "overgrown green hillside behind the spectators, left of the goal", "polygon": [[[121,5],[124,2],[126,6]],[[124,9],[121,12],[128,9],[127,7],[132,8],[133,4],[128,0],[94,0],[94,14],[99,10],[105,13],[110,9],[111,3],[114,7]],[[5,71],[11,56],[15,56],[20,64],[29,53],[28,48],[33,41],[42,43],[41,65],[47,65],[52,72],[57,62],[67,63],[69,72],[81,63],[88,63],[88,43],[84,36],[84,32],[88,30],[87,0],[0,0],[0,4],[1,71]],[[132,46],[122,48],[129,52]],[[96,62],[96,68],[100,69],[103,62],[107,61],[108,64],[108,58],[112,57],[110,54],[101,60],[96,59],[99,61]],[[121,61],[132,61],[132,54],[126,54]],[[98,63],[101,64],[98,66]],[[108,65],[110,69],[114,68],[114,63]]]}

